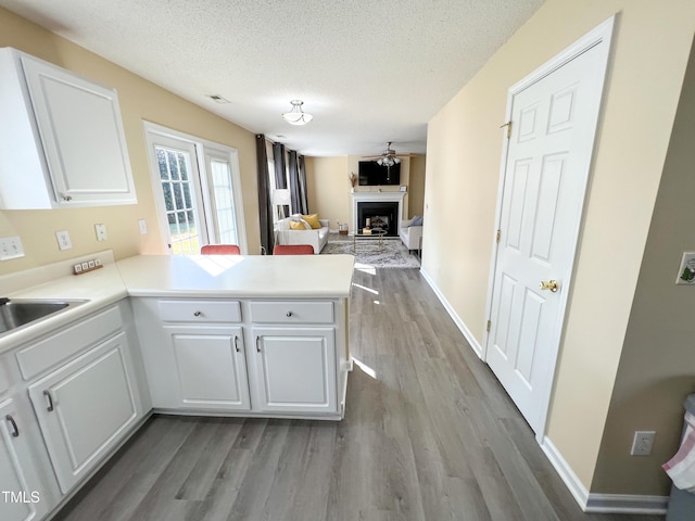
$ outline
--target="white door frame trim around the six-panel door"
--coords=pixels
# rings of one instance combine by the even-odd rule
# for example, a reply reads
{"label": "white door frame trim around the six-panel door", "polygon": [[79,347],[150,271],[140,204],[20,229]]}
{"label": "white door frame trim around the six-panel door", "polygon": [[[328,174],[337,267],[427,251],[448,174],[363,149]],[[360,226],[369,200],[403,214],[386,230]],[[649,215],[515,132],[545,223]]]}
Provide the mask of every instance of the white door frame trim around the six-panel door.
{"label": "white door frame trim around the six-panel door", "polygon": [[[557,314],[557,322],[555,325],[555,328],[554,328],[554,331],[553,331],[553,334],[552,334],[553,346],[552,346],[552,355],[551,355],[552,360],[551,360],[549,367],[552,368],[551,370],[553,371],[553,374],[552,374],[552,378],[549,379],[549,381],[553,382],[553,384],[548,385],[546,390],[542,391],[542,395],[543,395],[542,401],[543,401],[543,405],[544,405],[542,419],[540,421],[540,425],[542,425],[542,427],[535,433],[536,440],[539,442],[543,440],[543,437],[545,435],[546,428],[547,428],[547,412],[548,412],[548,408],[549,408],[549,404],[551,404],[551,397],[552,397],[552,394],[553,394],[553,387],[554,387],[554,382],[555,382],[555,370],[557,369],[557,355],[559,353],[560,341],[561,341],[561,338],[563,338],[563,333],[565,331],[567,303],[569,302],[569,295],[572,292],[572,285],[571,284],[572,284],[572,280],[573,280],[573,276],[574,276],[574,270],[576,270],[576,267],[577,267],[576,266],[577,265],[577,254],[578,254],[578,251],[579,251],[578,245],[579,245],[579,239],[581,237],[582,224],[583,224],[583,220],[584,220],[583,219],[584,207],[586,205],[586,199],[587,199],[587,195],[589,195],[589,192],[590,192],[590,190],[589,190],[589,180],[590,180],[590,177],[591,177],[591,173],[593,171],[594,162],[595,162],[595,157],[596,157],[596,137],[598,135],[598,126],[601,125],[602,114],[603,114],[603,104],[604,104],[604,98],[605,98],[605,92],[606,92],[606,74],[607,74],[607,69],[608,69],[608,62],[609,62],[609,56],[610,56],[610,51],[611,51],[611,41],[612,41],[612,34],[614,34],[615,23],[616,23],[616,15],[612,15],[608,20],[606,20],[605,22],[603,22],[602,24],[596,26],[594,29],[592,29],[591,31],[585,34],[583,37],[581,37],[574,43],[572,43],[571,46],[569,46],[566,49],[564,49],[563,51],[560,51],[558,54],[556,54],[549,61],[545,62],[539,68],[536,68],[531,74],[526,76],[523,79],[521,79],[520,81],[514,84],[511,87],[509,87],[509,90],[507,91],[507,106],[506,106],[506,111],[505,111],[505,119],[504,120],[505,122],[510,122],[514,98],[517,94],[519,94],[523,90],[532,87],[533,85],[535,85],[536,82],[539,82],[540,80],[545,78],[546,76],[551,75],[552,73],[557,71],[558,68],[563,67],[567,63],[569,63],[572,60],[574,60],[580,54],[582,54],[582,53],[589,51],[590,49],[593,49],[594,47],[597,47],[597,46],[603,43],[603,47],[601,49],[601,53],[596,56],[596,60],[602,60],[603,61],[602,71],[601,71],[601,74],[603,75],[603,78],[602,78],[603,87],[601,89],[601,93],[599,93],[599,98],[598,98],[598,113],[597,113],[597,117],[596,117],[596,128],[594,130],[594,143],[593,143],[593,147],[592,147],[592,155],[591,155],[591,160],[589,162],[587,168],[585,169],[585,171],[582,173],[582,175],[584,176],[583,183],[582,183],[583,187],[584,187],[584,193],[583,193],[582,204],[577,209],[577,215],[574,216],[574,223],[572,225],[572,230],[571,230],[571,232],[573,233],[573,237],[574,237],[573,251],[572,251],[572,255],[571,255],[572,256],[572,260],[571,260],[570,266],[569,266],[568,277],[564,280],[564,283],[563,283],[563,292],[559,295],[559,306],[558,306],[558,314]],[[494,290],[494,282],[495,282],[495,270],[496,270],[496,265],[497,265],[497,250],[498,250],[498,243],[497,243],[496,234],[497,234],[497,230],[500,230],[501,226],[502,226],[502,202],[503,202],[504,191],[505,191],[505,188],[506,188],[505,187],[505,180],[506,180],[506,171],[507,171],[508,151],[509,151],[509,138],[507,137],[507,127],[505,126],[505,131],[504,131],[504,137],[503,137],[503,144],[502,144],[501,162],[500,162],[500,181],[498,181],[498,189],[497,189],[496,211],[495,211],[495,227],[494,227],[494,233],[493,233],[493,240],[492,240],[492,255],[491,255],[491,260],[490,260],[490,274],[489,274],[489,278],[488,278],[488,296],[486,296],[486,304],[485,304],[485,317],[486,317],[485,321],[490,317],[492,317],[492,305],[493,305],[493,300],[492,298],[493,298],[493,290]],[[483,361],[486,361],[486,359],[488,359],[488,348],[489,348],[489,343],[490,343],[490,340],[491,340],[491,335],[490,335],[490,332],[488,331],[486,323],[483,327],[483,331],[484,331],[484,334],[483,334],[483,342],[482,342],[482,346],[481,346],[482,347],[481,358],[483,359]]]}

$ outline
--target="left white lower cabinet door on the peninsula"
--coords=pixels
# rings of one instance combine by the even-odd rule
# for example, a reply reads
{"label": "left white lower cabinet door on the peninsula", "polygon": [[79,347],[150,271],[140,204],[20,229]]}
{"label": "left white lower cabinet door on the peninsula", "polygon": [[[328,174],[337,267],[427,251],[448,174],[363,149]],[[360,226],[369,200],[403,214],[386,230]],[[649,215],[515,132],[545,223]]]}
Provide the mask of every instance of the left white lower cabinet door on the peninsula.
{"label": "left white lower cabinet door on the peninsula", "polygon": [[177,374],[177,406],[249,410],[249,381],[241,328],[166,327]]}

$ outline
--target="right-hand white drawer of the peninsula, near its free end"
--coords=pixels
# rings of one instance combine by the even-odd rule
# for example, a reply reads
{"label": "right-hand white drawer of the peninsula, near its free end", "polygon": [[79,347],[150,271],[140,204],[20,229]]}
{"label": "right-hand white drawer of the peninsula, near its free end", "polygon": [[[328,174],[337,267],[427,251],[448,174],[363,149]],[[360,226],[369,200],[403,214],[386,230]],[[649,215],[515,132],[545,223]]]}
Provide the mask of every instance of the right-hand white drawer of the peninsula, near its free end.
{"label": "right-hand white drawer of the peninsula, near its free end", "polygon": [[332,323],[333,303],[316,301],[251,302],[251,320],[257,323]]}

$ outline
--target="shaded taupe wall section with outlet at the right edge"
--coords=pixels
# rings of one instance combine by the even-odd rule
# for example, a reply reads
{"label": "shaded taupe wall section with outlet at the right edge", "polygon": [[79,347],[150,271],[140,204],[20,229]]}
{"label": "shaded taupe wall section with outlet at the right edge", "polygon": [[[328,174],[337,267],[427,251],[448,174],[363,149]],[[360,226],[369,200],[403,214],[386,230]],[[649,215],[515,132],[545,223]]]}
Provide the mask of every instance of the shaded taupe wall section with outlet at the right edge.
{"label": "shaded taupe wall section with outlet at the right edge", "polygon": [[[695,52],[691,53],[642,262],[592,488],[664,494],[659,467],[677,450],[683,402],[695,392],[695,288],[675,285],[695,251]],[[630,457],[634,431],[656,430],[650,457]]]}

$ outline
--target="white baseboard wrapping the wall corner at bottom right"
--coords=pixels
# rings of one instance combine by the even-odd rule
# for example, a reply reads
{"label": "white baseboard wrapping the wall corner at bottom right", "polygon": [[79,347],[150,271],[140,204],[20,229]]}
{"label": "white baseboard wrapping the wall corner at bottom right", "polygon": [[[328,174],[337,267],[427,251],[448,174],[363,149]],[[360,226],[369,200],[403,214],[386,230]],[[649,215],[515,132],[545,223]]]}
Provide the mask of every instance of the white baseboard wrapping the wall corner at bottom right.
{"label": "white baseboard wrapping the wall corner at bottom right", "polygon": [[662,516],[666,513],[669,503],[668,496],[590,494],[547,436],[543,439],[541,448],[584,512],[636,513],[643,516]]}

